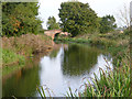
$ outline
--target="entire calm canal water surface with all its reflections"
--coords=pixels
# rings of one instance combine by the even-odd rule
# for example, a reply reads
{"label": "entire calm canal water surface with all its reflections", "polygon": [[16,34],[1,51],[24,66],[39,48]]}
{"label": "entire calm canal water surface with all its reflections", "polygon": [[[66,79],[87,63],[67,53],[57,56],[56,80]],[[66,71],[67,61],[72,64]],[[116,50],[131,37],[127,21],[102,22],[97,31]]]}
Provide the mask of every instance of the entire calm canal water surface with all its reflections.
{"label": "entire calm canal water surface with all its reflections", "polygon": [[80,44],[58,44],[48,55],[34,57],[20,70],[3,77],[3,97],[40,97],[36,88],[43,86],[46,96],[64,97],[69,92],[81,92],[94,73],[100,77],[99,68],[112,69],[112,57],[108,52]]}

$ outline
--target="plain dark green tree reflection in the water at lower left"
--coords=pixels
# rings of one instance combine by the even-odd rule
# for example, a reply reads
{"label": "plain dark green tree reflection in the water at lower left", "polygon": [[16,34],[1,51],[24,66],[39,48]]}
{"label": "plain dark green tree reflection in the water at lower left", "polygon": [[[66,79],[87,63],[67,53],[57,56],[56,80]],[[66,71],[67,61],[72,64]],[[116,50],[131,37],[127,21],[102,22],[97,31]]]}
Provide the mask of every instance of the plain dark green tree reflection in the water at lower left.
{"label": "plain dark green tree reflection in the water at lower left", "polygon": [[[33,63],[33,62],[32,62]],[[33,65],[33,64],[32,64]],[[34,96],[36,91],[36,85],[38,81],[38,66],[33,66],[30,69],[21,69],[21,78],[18,79],[18,74],[7,79],[4,86],[2,86],[3,97],[28,97]]]}

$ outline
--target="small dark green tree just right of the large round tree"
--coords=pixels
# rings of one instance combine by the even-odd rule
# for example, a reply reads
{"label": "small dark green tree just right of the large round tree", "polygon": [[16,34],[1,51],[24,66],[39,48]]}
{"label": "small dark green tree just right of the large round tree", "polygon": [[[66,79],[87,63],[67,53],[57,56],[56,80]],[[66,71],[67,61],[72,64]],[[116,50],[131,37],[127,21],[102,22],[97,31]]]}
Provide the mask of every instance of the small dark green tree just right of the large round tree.
{"label": "small dark green tree just right of the large round tree", "polygon": [[101,18],[100,21],[100,33],[107,33],[113,31],[117,28],[116,19],[113,15],[106,15]]}

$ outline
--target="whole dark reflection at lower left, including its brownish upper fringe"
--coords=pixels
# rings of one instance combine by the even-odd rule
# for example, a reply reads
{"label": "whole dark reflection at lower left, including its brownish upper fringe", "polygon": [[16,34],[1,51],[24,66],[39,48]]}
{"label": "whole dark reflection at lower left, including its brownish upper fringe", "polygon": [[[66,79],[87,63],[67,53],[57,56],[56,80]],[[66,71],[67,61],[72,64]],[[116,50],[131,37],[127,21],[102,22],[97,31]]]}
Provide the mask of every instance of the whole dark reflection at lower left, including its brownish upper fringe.
{"label": "whole dark reflection at lower left, including its brownish upper fringe", "polygon": [[36,96],[36,86],[40,85],[37,59],[28,59],[25,67],[2,78],[2,97]]}

